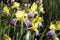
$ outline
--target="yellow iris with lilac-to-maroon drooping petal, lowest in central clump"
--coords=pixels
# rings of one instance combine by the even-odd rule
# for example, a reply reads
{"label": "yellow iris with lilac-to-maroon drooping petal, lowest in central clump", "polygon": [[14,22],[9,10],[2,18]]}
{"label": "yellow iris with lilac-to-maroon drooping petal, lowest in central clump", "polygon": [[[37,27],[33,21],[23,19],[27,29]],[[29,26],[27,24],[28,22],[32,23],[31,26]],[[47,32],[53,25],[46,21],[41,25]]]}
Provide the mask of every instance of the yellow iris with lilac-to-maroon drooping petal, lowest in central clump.
{"label": "yellow iris with lilac-to-maroon drooping petal, lowest in central clump", "polygon": [[30,22],[29,20],[25,20],[25,24],[27,25],[28,29],[35,31],[38,29],[39,21],[37,21],[37,22],[33,22],[33,21]]}

